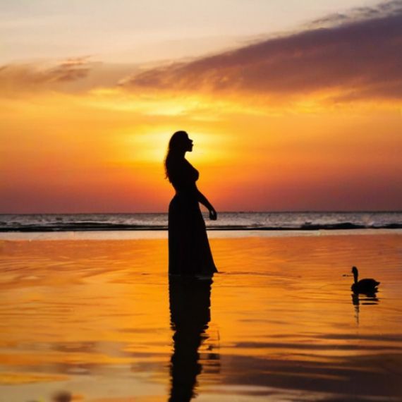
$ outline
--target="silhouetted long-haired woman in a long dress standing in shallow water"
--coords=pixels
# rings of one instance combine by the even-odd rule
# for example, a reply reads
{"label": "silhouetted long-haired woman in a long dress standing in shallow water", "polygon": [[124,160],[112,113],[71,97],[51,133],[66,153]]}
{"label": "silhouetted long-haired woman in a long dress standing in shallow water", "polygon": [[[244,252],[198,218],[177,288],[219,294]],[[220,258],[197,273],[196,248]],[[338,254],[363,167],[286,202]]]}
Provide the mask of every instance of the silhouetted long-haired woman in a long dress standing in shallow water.
{"label": "silhouetted long-haired woman in a long dress standing in shallow water", "polygon": [[176,190],[169,205],[169,274],[210,278],[217,268],[199,202],[209,210],[209,219],[217,219],[217,212],[195,185],[199,173],[185,159],[192,150],[185,131],[172,135],[165,160],[166,178]]}

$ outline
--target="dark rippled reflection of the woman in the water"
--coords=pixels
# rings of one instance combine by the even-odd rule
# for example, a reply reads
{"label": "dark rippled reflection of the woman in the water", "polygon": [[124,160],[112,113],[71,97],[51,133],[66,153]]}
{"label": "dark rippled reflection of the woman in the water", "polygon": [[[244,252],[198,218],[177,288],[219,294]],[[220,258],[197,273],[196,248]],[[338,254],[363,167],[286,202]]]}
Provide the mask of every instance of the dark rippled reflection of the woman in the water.
{"label": "dark rippled reflection of the woman in the water", "polygon": [[211,285],[211,279],[169,277],[171,328],[174,331],[170,402],[186,402],[195,397],[197,375],[201,371],[219,372],[219,354],[212,352],[213,347],[209,346],[207,358],[200,358],[198,350],[209,338]]}

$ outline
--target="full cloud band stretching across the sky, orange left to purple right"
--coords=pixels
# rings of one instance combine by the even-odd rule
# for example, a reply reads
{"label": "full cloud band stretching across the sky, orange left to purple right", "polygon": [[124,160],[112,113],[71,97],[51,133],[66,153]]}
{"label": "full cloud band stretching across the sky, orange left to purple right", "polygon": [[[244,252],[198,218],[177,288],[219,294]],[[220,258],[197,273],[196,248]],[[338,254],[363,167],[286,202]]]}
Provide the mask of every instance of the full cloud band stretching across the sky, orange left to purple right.
{"label": "full cloud band stretching across the sky, orange left to purple right", "polygon": [[288,102],[402,100],[402,0],[312,21],[304,30],[193,61],[140,70],[75,57],[52,65],[0,66],[7,96],[42,89],[82,92],[118,85],[136,94],[252,95]]}

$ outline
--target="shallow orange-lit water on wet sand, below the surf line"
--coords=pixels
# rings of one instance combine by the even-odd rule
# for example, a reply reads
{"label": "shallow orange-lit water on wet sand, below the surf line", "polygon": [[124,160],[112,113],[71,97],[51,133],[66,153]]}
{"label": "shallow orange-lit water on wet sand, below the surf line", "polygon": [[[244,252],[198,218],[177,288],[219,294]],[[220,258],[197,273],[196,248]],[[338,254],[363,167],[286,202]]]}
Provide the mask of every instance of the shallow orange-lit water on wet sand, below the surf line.
{"label": "shallow orange-lit water on wet sand, below the surf line", "polygon": [[249,234],[170,286],[163,238],[1,240],[0,401],[401,401],[402,235]]}

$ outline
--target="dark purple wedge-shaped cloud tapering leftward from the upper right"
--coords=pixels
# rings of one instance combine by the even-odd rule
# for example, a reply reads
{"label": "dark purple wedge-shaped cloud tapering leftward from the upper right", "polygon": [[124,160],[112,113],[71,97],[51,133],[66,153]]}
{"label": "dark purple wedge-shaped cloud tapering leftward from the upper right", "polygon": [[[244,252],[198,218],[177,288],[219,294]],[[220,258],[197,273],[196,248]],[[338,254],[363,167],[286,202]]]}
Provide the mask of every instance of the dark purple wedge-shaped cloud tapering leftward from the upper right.
{"label": "dark purple wedge-shaped cloud tapering leftward from the upper right", "polygon": [[402,1],[358,8],[313,25],[234,51],[153,68],[121,85],[262,97],[325,92],[337,102],[402,99]]}

